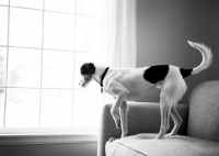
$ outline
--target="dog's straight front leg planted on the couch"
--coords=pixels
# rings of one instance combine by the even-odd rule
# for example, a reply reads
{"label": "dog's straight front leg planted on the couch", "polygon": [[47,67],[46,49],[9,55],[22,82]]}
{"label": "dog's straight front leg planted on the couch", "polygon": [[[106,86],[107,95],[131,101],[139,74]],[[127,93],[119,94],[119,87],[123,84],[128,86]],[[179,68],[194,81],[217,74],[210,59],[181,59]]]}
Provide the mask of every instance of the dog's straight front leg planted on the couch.
{"label": "dog's straight front leg planted on the couch", "polygon": [[125,137],[128,134],[128,105],[126,101],[119,108],[120,113],[120,124],[122,124],[122,136]]}

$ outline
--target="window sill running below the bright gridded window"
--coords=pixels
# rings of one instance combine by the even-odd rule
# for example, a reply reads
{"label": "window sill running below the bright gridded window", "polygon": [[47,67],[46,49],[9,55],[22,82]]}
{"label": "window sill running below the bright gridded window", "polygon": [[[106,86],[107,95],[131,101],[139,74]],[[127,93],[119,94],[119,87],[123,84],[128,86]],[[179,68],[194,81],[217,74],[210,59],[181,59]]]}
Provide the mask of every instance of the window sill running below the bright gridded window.
{"label": "window sill running below the bright gridded window", "polygon": [[2,145],[96,143],[96,133],[11,133],[0,134]]}

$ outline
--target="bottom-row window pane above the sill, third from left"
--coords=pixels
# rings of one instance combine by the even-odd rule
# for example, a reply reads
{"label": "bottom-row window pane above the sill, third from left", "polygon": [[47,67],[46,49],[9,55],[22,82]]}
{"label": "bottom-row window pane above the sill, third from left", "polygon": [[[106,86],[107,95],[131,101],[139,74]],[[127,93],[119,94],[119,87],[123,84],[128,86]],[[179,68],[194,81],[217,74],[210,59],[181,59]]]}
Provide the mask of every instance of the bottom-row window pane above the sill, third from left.
{"label": "bottom-row window pane above the sill, third from left", "polygon": [[42,90],[42,127],[70,127],[72,113],[72,90]]}

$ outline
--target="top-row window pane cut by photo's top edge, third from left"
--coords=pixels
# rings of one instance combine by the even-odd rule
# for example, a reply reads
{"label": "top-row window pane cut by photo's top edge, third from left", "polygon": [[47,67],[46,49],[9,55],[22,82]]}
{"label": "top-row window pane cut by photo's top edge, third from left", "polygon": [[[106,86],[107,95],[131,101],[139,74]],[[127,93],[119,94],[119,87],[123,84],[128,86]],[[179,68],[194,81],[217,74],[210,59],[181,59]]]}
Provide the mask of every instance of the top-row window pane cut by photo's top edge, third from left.
{"label": "top-row window pane cut by photo's top edge, third from left", "polygon": [[74,0],[46,0],[45,10],[74,13]]}

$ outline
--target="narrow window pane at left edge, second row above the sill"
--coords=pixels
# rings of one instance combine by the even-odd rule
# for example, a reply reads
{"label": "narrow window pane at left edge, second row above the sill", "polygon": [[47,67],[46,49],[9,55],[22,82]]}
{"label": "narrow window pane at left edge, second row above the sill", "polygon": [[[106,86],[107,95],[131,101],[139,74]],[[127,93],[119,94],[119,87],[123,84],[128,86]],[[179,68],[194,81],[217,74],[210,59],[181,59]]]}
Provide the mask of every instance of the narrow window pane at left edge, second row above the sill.
{"label": "narrow window pane at left edge, second row above the sill", "polygon": [[0,87],[5,87],[7,47],[0,47]]}

